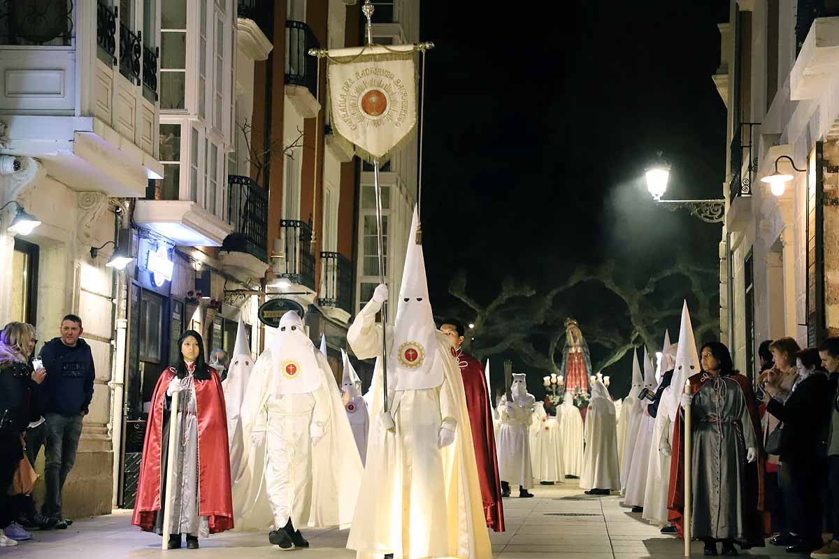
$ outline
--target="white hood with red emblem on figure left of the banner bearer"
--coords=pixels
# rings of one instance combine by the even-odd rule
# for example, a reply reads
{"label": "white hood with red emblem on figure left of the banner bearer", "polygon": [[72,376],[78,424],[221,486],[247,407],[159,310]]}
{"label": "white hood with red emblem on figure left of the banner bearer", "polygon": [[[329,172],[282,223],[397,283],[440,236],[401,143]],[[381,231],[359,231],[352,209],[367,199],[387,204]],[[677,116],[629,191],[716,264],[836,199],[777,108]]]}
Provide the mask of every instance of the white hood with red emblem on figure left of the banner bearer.
{"label": "white hood with red emblem on figure left of the banner bearer", "polygon": [[271,340],[271,358],[274,360],[276,395],[306,394],[320,387],[315,345],[306,335],[300,315],[294,311],[279,319],[279,327]]}

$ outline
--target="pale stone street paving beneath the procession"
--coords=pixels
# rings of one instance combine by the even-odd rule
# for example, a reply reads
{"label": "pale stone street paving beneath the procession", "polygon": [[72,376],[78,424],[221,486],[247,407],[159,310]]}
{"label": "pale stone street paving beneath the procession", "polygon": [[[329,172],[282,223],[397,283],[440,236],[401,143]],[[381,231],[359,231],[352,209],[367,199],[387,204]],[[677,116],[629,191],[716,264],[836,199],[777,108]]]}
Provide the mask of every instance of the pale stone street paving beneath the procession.
{"label": "pale stone street paving beneath the procession", "polygon": [[[631,514],[620,498],[587,497],[572,483],[537,485],[533,499],[504,499],[507,531],[490,534],[492,551],[501,559],[676,559],[682,557],[682,543],[662,536],[658,528]],[[65,531],[34,532],[33,541],[0,548],[0,557],[21,559],[144,559],[146,557],[191,557],[194,559],[258,559],[277,557],[282,551],[268,543],[266,534],[225,532],[201,540],[201,549],[163,552],[160,538],[139,531],[131,524],[128,511],[78,519]],[[355,557],[347,550],[347,531],[304,530],[309,550],[296,551],[306,557],[335,559]],[[693,542],[693,554],[702,556],[701,542]],[[771,555],[770,555],[771,554]],[[767,546],[743,556],[802,557]],[[303,555],[301,555],[303,556]],[[488,558],[487,558],[488,559]]]}

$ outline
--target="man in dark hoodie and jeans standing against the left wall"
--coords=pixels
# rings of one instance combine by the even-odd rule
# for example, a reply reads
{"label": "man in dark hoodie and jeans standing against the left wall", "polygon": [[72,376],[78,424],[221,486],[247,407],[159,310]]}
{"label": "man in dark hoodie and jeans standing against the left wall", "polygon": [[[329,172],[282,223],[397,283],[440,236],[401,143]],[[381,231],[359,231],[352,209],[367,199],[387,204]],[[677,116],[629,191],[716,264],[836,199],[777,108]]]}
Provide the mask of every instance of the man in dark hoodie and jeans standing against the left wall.
{"label": "man in dark hoodie and jeans standing against the left wall", "polygon": [[67,474],[76,463],[81,437],[81,420],[93,398],[91,348],[81,339],[81,318],[68,314],[61,319],[60,337],[51,339],[41,350],[46,380],[39,397],[46,420],[46,495],[43,514],[58,520],[55,527],[66,527],[72,520],[61,514],[61,493]]}

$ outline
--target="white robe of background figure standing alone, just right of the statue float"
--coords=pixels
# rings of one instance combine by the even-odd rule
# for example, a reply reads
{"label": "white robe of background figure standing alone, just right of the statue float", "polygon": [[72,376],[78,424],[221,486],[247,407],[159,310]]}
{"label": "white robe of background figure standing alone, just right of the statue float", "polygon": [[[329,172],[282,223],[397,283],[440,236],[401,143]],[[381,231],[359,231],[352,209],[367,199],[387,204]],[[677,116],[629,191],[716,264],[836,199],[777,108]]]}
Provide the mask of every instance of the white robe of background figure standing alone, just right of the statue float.
{"label": "white robe of background figure standing alone, just right of the statue float", "polygon": [[621,487],[618,468],[618,420],[615,413],[607,410],[612,402],[602,400],[592,399],[586,412],[586,450],[580,476],[582,489]]}

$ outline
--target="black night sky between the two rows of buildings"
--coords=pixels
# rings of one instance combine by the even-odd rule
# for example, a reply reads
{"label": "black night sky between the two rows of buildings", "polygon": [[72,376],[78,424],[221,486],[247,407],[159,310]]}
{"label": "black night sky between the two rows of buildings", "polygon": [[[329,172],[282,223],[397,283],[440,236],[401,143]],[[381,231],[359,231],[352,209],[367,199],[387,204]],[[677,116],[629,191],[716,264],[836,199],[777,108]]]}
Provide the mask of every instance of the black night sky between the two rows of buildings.
{"label": "black night sky between the two rows of buildings", "polygon": [[[655,207],[643,172],[661,150],[665,199],[722,195],[726,109],[711,75],[727,1],[421,6],[420,39],[436,44],[423,191],[435,313],[456,305],[458,269],[486,302],[505,274],[547,289],[609,259],[638,281],[677,252],[718,267],[720,225]],[[583,334],[586,316],[616,312],[576,299]]]}

